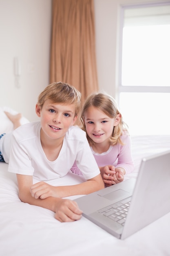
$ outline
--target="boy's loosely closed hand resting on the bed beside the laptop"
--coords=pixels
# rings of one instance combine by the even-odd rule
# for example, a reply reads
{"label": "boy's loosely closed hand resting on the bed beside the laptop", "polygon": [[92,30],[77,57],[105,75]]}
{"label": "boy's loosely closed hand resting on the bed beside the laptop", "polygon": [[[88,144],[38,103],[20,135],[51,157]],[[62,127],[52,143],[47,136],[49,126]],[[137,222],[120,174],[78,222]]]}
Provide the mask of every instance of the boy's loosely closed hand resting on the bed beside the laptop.
{"label": "boy's loosely closed hand resting on the bed beside the laptop", "polygon": [[82,211],[79,209],[77,202],[61,199],[57,202],[55,218],[60,222],[71,222],[79,220],[82,217]]}

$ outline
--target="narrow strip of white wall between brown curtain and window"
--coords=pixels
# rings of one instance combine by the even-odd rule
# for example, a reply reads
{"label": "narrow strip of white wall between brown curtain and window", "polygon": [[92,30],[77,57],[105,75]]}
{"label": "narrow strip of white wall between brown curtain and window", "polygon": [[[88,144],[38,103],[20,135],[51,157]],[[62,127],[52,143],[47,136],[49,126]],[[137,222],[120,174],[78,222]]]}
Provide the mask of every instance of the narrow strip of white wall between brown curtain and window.
{"label": "narrow strip of white wall between brown curtain and window", "polygon": [[117,99],[119,61],[119,22],[122,5],[164,0],[94,0],[96,58],[99,89]]}

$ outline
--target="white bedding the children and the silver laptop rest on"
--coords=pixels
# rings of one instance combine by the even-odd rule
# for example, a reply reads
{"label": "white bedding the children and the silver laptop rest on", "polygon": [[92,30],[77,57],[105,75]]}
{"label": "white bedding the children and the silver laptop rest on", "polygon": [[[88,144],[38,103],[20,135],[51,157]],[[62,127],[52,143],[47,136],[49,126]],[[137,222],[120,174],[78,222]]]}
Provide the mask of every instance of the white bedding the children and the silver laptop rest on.
{"label": "white bedding the children and the silver laptop rest on", "polygon": [[[137,177],[142,157],[169,149],[170,135],[132,137],[135,170],[125,179]],[[119,240],[84,217],[61,223],[55,220],[52,211],[22,203],[16,176],[7,168],[7,164],[0,162],[0,256],[170,255],[170,213]],[[55,181],[55,185],[83,180],[82,176],[69,173]]]}

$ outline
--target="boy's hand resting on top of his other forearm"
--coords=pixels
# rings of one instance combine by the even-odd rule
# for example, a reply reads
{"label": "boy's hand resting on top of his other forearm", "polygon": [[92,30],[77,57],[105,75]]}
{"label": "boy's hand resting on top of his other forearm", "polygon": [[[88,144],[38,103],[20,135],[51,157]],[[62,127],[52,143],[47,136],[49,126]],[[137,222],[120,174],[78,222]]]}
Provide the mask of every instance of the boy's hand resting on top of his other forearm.
{"label": "boy's hand resting on top of his other forearm", "polygon": [[30,192],[35,199],[45,199],[50,196],[60,198],[60,193],[57,193],[57,187],[51,186],[43,181],[33,184],[30,188]]}

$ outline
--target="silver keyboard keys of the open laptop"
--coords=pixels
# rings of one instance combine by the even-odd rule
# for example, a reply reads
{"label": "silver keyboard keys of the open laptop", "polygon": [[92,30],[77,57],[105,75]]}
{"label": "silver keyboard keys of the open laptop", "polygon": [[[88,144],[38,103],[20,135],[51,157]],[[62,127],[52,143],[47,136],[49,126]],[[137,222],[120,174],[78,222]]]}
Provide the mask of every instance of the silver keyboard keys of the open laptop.
{"label": "silver keyboard keys of the open laptop", "polygon": [[128,209],[130,206],[130,198],[126,198],[120,202],[117,202],[115,204],[111,204],[105,208],[102,208],[98,211],[98,213],[110,218],[111,220],[114,220],[124,226],[124,222],[126,220],[126,216],[128,214]]}

